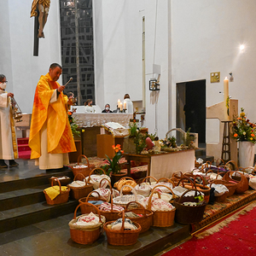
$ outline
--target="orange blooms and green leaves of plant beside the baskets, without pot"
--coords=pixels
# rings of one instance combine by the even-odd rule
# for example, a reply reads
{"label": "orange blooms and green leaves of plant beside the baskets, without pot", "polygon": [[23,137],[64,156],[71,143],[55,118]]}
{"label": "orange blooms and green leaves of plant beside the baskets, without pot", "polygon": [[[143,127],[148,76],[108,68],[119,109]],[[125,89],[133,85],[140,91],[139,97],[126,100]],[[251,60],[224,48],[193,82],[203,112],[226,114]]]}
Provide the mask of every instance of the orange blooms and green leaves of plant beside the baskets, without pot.
{"label": "orange blooms and green leaves of plant beside the baskets, without pot", "polygon": [[106,171],[106,174],[109,176],[112,172],[113,174],[118,174],[121,171],[121,166],[119,165],[119,160],[122,158],[124,154],[124,150],[121,149],[121,146],[119,144],[112,146],[113,150],[115,151],[115,154],[113,156],[113,159],[111,160],[108,155],[107,159],[105,161],[107,162],[107,165],[102,166],[102,169]]}

